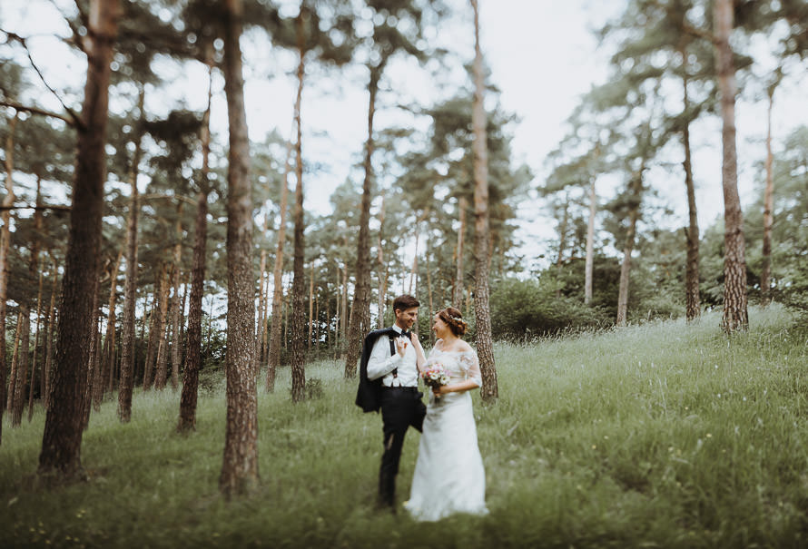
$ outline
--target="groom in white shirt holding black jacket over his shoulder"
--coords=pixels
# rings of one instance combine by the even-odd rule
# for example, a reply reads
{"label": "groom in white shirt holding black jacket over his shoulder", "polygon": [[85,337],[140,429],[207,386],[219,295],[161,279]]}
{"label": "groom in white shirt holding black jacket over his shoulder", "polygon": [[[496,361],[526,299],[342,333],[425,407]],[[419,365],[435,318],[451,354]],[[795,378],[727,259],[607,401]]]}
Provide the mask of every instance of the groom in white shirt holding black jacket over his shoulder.
{"label": "groom in white shirt holding black jacket over his shoulder", "polygon": [[416,351],[410,328],[418,320],[418,299],[409,295],[393,300],[396,317],[391,328],[370,332],[360,361],[360,388],[356,404],[365,412],[381,408],[384,452],[379,468],[379,505],[396,510],[396,475],[401,447],[409,426],[419,431],[427,414],[418,391]]}

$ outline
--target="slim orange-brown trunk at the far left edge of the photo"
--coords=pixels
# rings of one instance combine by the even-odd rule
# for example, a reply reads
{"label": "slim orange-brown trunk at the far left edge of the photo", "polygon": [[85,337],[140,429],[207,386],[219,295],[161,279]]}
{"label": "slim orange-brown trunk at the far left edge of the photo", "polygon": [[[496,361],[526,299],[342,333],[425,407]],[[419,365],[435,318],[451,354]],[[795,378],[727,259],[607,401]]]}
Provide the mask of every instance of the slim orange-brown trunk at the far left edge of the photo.
{"label": "slim orange-brown trunk at the far left edge of the photo", "polygon": [[[0,229],[0,443],[3,439],[3,412],[5,411],[5,302],[8,298],[8,250],[11,247],[11,206],[14,205],[14,131],[18,113],[8,121],[8,134],[5,137],[5,197],[4,210],[0,212],[3,228]],[[13,386],[10,386],[13,387]]]}

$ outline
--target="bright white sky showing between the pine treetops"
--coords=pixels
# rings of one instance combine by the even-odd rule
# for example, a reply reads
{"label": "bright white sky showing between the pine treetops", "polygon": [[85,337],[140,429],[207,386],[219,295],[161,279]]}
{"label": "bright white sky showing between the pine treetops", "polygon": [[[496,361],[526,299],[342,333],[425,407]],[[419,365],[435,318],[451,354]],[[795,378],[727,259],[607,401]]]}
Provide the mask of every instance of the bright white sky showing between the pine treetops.
{"label": "bright white sky showing between the pine treetops", "polygon": [[[67,0],[56,0],[69,6]],[[444,27],[435,38],[451,44],[458,64],[468,62],[473,55],[471,8],[466,0],[451,0],[458,12],[451,27]],[[557,146],[567,129],[564,121],[590,86],[606,79],[607,53],[599,50],[591,29],[603,25],[619,13],[621,2],[591,2],[589,0],[480,0],[482,44],[486,62],[492,69],[492,83],[501,90],[505,109],[517,113],[520,123],[514,132],[517,162],[525,162],[536,174],[531,184],[536,188],[546,175],[544,160],[547,152]],[[67,29],[45,0],[13,0],[0,5],[0,27],[23,35],[66,34]],[[83,60],[71,60],[61,54],[63,46],[47,36],[32,41],[34,58],[42,65],[44,74],[54,85],[72,84],[80,89],[83,82]],[[291,107],[295,93],[292,71],[296,64],[293,54],[273,50],[255,35],[242,40],[246,78],[246,104],[251,139],[262,141],[267,132],[277,128],[283,135],[291,130]],[[175,106],[174,100],[185,102],[192,109],[202,110],[205,101],[205,74],[202,67],[178,70],[163,65],[172,85],[151,93],[147,103],[149,113],[166,113]],[[756,67],[765,74],[766,67]],[[448,77],[450,78],[450,77]],[[328,171],[305,181],[306,207],[327,213],[331,191],[348,177],[351,165],[360,158],[366,138],[367,80],[362,68],[350,68],[340,73],[316,74],[311,81],[328,85],[310,85],[303,97],[303,154],[307,162],[328,166]],[[440,97],[439,82],[427,71],[409,64],[393,64],[382,82],[381,103],[416,100],[423,105]],[[214,131],[226,135],[226,108],[221,78],[216,82],[219,92],[213,105]],[[804,108],[804,93],[808,89],[805,67],[792,74],[778,91],[774,108],[774,139],[782,139],[793,127],[808,123]],[[54,98],[44,94],[43,106],[58,110]],[[755,97],[754,85],[744,91],[737,103],[739,147],[739,187],[744,205],[752,201],[754,164],[764,158],[765,101]],[[377,127],[400,118],[394,109],[379,112]],[[695,134],[695,180],[699,221],[704,230],[723,213],[720,164],[720,123],[709,120]],[[672,159],[672,162],[681,162]],[[677,218],[672,226],[686,224],[683,178],[678,172],[652,172],[652,184],[660,190],[662,201],[670,203]],[[608,193],[607,185],[599,190]],[[522,250],[531,257],[543,253],[538,240],[554,238],[555,221],[542,217],[543,204],[531,195],[519,207],[518,237],[525,243]]]}

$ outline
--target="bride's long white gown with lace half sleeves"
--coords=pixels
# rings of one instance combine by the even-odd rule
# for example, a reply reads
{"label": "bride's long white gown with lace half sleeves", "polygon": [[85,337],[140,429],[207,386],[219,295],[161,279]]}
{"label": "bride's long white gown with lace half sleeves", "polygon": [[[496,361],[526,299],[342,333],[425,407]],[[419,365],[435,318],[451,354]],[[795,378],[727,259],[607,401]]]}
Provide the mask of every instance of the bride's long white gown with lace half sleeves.
{"label": "bride's long white gown with lace half sleeves", "polygon": [[[449,384],[472,379],[481,386],[477,353],[473,349],[444,351],[442,345],[438,339],[427,365],[443,365]],[[469,391],[436,398],[429,390],[418,461],[409,501],[404,506],[421,521],[437,521],[455,513],[488,513],[486,471],[479,454]]]}

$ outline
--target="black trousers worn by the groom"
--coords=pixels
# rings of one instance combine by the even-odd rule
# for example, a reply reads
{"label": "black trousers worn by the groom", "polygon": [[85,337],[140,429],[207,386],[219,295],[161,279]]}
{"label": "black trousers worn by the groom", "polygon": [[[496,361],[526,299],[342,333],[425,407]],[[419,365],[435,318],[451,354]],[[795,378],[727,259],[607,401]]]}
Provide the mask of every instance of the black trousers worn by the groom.
{"label": "black trousers worn by the groom", "polygon": [[384,454],[379,468],[379,504],[396,505],[396,475],[399,474],[401,448],[409,426],[419,431],[424,425],[427,407],[417,387],[381,389],[381,420],[384,423]]}

